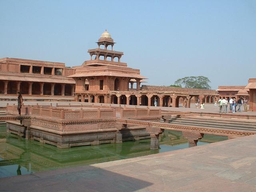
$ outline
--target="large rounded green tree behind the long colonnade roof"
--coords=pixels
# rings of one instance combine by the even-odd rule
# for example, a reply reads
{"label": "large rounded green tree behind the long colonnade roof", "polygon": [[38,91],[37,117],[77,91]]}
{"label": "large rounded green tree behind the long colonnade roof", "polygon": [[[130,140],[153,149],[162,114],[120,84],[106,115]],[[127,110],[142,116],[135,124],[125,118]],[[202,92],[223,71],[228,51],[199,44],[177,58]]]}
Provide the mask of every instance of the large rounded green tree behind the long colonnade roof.
{"label": "large rounded green tree behind the long colonnade roof", "polygon": [[184,77],[176,80],[175,85],[183,86],[185,88],[197,88],[197,89],[210,89],[210,80],[208,77],[198,76],[198,77]]}

